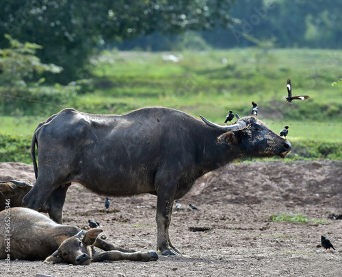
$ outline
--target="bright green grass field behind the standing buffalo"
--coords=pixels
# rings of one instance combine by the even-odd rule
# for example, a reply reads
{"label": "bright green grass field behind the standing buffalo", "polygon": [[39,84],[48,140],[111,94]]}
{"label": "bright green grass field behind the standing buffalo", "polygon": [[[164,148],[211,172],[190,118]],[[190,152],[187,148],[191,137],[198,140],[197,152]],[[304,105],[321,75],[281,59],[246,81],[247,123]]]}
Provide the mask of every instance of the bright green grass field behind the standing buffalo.
{"label": "bright green grass field behind the standing buffalo", "polygon": [[[174,55],[178,62],[172,62]],[[105,51],[94,57],[91,91],[66,99],[65,107],[84,112],[129,112],[166,106],[223,123],[228,110],[259,119],[274,132],[289,125],[293,144],[342,144],[342,91],[331,83],[342,77],[342,51],[328,49],[229,49],[150,53]],[[306,101],[285,104],[286,81]],[[61,108],[55,107],[54,112]],[[0,134],[29,135],[51,115],[1,117]]]}

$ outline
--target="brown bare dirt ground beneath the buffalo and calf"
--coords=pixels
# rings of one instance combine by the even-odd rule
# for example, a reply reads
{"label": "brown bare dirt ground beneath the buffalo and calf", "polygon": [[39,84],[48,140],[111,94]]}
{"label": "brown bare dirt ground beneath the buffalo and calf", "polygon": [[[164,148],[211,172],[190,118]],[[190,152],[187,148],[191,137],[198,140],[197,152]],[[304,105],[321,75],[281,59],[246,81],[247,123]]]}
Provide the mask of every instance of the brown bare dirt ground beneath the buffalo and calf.
{"label": "brown bare dirt ground beneath the buffalo and calf", "polygon": [[[227,165],[201,178],[178,201],[170,237],[179,256],[156,262],[109,261],[88,266],[12,261],[8,276],[342,276],[342,161],[252,162]],[[34,181],[31,165],[0,164],[0,180]],[[73,184],[64,223],[88,229],[99,221],[107,240],[135,250],[155,250],[156,197],[105,197]],[[199,210],[190,210],[189,203]],[[304,215],[308,223],[270,221],[271,215]],[[316,220],[324,222],[317,223]],[[191,232],[189,227],[208,227]],[[336,251],[317,248],[325,235]],[[0,276],[5,262],[0,261]]]}

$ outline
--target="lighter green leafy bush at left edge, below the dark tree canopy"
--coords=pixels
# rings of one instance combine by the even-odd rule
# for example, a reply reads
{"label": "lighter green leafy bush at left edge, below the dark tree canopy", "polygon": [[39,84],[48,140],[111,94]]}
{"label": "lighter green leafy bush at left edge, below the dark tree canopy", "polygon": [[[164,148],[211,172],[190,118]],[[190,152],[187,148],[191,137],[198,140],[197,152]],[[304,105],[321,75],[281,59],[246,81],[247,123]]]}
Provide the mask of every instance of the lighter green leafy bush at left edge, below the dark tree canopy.
{"label": "lighter green leafy bush at left edge, below the dark tree canopy", "polygon": [[[43,86],[44,72],[60,73],[61,67],[44,64],[36,56],[40,45],[19,43],[5,35],[11,48],[0,49],[0,107],[2,115],[37,115],[60,109],[68,99],[75,97],[75,84]],[[44,105],[49,104],[49,105]]]}

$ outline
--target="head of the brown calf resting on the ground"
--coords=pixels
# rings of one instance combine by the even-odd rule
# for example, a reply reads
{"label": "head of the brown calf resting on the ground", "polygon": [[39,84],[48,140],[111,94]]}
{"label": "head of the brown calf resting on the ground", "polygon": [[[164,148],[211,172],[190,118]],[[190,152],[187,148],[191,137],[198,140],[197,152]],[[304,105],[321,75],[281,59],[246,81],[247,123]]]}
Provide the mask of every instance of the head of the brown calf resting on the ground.
{"label": "head of the brown calf resting on the ground", "polygon": [[73,265],[89,265],[92,259],[91,245],[94,244],[101,229],[79,231],[75,236],[62,242],[51,256],[45,259],[45,263],[69,263]]}

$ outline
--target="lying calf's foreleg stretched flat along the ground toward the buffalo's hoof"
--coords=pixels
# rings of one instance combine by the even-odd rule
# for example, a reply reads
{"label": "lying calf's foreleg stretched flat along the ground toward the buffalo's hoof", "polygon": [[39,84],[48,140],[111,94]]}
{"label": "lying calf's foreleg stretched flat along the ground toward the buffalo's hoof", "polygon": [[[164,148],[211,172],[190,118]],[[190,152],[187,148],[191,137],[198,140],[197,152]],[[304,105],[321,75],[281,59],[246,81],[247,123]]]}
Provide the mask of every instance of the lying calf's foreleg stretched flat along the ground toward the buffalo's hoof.
{"label": "lying calf's foreleg stretched flat along the ground toward the buffalo's hoof", "polygon": [[101,262],[101,261],[121,261],[121,260],[129,260],[129,261],[142,261],[142,262],[150,262],[157,261],[158,254],[154,251],[137,251],[133,253],[124,253],[117,250],[111,251],[96,251],[92,256],[92,261]]}

